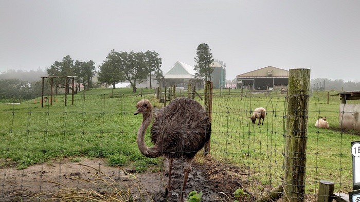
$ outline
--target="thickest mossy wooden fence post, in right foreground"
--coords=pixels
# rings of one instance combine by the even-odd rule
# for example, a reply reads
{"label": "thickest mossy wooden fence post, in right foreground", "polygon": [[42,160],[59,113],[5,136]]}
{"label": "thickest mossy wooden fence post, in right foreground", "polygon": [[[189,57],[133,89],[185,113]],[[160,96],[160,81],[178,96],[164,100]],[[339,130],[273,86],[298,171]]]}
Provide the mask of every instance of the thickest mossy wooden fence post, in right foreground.
{"label": "thickest mossy wooden fence post, in right foreground", "polygon": [[310,69],[290,69],[284,151],[285,201],[304,201]]}

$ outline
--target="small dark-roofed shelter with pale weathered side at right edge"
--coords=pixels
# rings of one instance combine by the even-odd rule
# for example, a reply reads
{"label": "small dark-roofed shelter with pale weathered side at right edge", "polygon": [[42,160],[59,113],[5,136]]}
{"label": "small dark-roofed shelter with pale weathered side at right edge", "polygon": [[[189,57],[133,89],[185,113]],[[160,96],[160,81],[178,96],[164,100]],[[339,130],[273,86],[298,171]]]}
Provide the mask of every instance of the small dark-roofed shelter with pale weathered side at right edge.
{"label": "small dark-roofed shelter with pale weathered side at right edge", "polygon": [[360,100],[360,91],[338,92],[341,104],[339,106],[339,128],[360,131],[360,104],[347,104],[347,100]]}

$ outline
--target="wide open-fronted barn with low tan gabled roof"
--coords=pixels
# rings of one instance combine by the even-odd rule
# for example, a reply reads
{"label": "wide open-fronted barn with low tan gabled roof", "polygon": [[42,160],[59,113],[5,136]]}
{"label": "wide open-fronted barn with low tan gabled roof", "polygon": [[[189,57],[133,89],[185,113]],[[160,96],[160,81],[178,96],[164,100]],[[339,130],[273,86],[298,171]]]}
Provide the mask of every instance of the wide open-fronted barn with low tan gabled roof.
{"label": "wide open-fronted barn with low tan gabled roof", "polygon": [[237,77],[237,88],[247,88],[250,90],[281,90],[289,83],[289,71],[273,66],[247,72]]}

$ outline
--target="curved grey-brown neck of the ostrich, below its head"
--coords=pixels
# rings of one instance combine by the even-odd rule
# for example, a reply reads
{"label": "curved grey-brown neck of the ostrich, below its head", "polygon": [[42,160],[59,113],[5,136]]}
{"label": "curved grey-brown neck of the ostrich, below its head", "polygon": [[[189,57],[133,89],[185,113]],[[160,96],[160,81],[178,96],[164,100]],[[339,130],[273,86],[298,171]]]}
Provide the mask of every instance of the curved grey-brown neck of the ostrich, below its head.
{"label": "curved grey-brown neck of the ostrich, below its head", "polygon": [[145,144],[144,136],[146,129],[149,127],[151,119],[153,117],[153,112],[151,110],[150,113],[142,113],[142,123],[140,125],[139,131],[137,132],[137,147],[139,148],[140,152],[150,158],[156,158],[161,155],[160,152],[155,152],[154,148],[148,148],[148,146]]}

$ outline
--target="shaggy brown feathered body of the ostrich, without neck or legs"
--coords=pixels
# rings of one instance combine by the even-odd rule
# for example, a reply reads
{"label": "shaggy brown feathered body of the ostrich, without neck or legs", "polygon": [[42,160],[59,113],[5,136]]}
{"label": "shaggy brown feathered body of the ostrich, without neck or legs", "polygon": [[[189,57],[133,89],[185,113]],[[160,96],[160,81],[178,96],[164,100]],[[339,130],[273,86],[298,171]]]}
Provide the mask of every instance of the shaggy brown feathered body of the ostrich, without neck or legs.
{"label": "shaggy brown feathered body of the ostrich, without neck or legs", "polygon": [[211,124],[199,102],[177,98],[156,114],[151,126],[154,149],[170,158],[192,158],[209,141]]}

